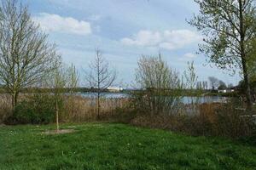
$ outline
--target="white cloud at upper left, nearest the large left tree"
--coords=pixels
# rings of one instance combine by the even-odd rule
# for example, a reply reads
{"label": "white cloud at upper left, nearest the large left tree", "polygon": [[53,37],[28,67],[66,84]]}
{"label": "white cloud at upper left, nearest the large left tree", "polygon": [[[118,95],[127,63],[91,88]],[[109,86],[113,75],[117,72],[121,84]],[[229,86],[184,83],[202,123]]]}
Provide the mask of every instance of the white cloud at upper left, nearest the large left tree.
{"label": "white cloud at upper left, nearest the large left tree", "polygon": [[58,14],[41,13],[33,20],[38,22],[44,31],[55,31],[62,33],[71,33],[77,35],[91,34],[89,22],[76,20],[72,17],[61,17]]}

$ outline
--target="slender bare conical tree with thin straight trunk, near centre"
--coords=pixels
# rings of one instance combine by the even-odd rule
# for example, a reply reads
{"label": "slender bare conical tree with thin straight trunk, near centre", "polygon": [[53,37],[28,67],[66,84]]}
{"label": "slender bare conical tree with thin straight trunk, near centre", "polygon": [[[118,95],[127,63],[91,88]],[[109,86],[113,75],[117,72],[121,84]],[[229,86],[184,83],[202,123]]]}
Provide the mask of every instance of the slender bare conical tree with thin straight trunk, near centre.
{"label": "slender bare conical tree with thin straight trunk, near centre", "polygon": [[110,69],[108,61],[102,57],[102,52],[96,49],[96,57],[90,62],[90,71],[85,71],[85,79],[91,88],[96,88],[97,118],[100,119],[102,92],[113,85],[117,77],[114,69]]}

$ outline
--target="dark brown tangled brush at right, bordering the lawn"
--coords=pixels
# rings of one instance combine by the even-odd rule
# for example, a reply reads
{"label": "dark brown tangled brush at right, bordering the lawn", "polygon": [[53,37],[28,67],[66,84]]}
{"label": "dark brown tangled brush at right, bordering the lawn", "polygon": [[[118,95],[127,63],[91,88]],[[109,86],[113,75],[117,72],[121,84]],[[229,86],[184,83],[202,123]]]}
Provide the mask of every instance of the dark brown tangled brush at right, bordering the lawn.
{"label": "dark brown tangled brush at right, bordering the lawn", "polygon": [[[184,111],[192,106],[186,105]],[[202,104],[195,105],[195,114],[179,115],[139,115],[131,124],[141,127],[169,129],[194,136],[223,136],[240,138],[253,135],[253,124],[246,113],[236,109],[236,105]]]}

